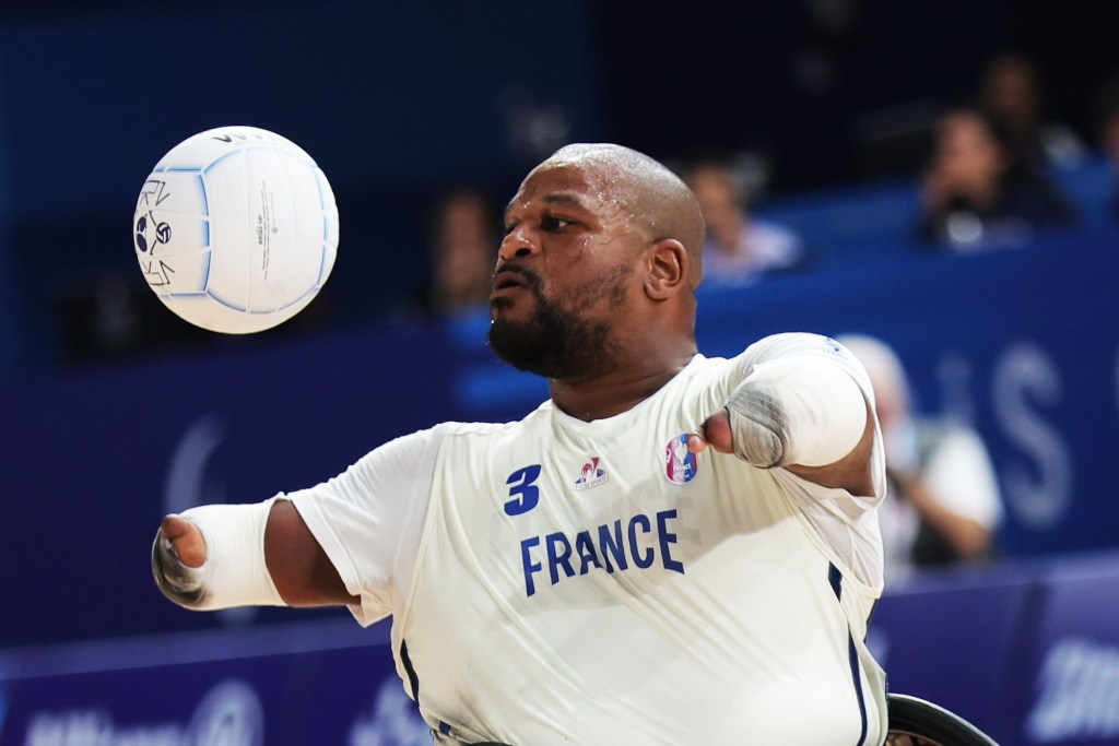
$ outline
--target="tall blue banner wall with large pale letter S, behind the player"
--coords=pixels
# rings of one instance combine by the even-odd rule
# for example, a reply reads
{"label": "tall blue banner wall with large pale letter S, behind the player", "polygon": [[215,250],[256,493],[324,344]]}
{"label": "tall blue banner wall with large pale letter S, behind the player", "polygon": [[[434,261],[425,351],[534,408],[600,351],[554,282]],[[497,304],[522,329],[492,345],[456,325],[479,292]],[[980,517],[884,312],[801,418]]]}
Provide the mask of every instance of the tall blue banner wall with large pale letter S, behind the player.
{"label": "tall blue banner wall with large pale letter S, behind the player", "polygon": [[[699,347],[731,356],[778,331],[880,337],[921,410],[987,441],[1004,556],[1119,547],[1117,238],[1085,232],[700,290]],[[0,649],[289,621],[285,610],[186,614],[164,601],[149,568],[161,516],[309,487],[446,419],[524,416],[547,383],[497,361],[482,310],[270,344],[229,339],[205,355],[6,383],[0,583],[11,602]]]}

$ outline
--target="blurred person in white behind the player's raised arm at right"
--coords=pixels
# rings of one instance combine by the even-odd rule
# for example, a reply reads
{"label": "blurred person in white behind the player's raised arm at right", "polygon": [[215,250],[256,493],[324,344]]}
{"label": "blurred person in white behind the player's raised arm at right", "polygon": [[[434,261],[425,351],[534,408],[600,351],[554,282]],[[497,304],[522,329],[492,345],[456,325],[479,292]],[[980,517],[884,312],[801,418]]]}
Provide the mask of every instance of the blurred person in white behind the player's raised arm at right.
{"label": "blurred person in white behind the player's raised arm at right", "polygon": [[916,416],[905,370],[884,342],[839,341],[866,367],[886,450],[887,491],[878,514],[886,580],[913,567],[988,559],[1003,517],[995,470],[969,427]]}

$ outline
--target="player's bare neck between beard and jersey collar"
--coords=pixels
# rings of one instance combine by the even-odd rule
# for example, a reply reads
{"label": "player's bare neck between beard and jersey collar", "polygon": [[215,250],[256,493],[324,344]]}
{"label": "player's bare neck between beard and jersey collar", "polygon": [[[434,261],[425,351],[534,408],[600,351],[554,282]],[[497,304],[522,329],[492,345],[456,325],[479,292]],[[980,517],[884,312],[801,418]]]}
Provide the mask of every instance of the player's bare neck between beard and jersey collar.
{"label": "player's bare neck between beard and jersey collar", "polygon": [[579,379],[551,379],[552,400],[584,422],[628,412],[661,389],[696,353],[695,341],[661,355],[634,357],[638,362]]}

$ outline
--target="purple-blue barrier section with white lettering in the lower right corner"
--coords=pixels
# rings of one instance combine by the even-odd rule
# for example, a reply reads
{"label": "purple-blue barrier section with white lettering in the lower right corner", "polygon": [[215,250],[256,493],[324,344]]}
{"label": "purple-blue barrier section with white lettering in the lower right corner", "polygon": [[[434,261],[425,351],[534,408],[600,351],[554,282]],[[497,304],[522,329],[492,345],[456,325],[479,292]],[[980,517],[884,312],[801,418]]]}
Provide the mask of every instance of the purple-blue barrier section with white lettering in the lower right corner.
{"label": "purple-blue barrier section with white lettering in the lower right corner", "polygon": [[868,641],[891,690],[1000,744],[1119,744],[1119,554],[918,578]]}

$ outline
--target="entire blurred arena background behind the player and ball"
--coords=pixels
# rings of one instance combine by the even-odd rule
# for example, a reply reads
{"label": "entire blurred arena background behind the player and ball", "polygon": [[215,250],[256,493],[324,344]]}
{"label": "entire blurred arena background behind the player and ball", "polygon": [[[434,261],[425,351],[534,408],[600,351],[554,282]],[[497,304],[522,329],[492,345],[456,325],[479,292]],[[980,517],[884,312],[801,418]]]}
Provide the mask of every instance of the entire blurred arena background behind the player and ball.
{"label": "entire blurred arena background behind the player and ball", "polygon": [[[491,358],[482,299],[500,207],[576,141],[642,150],[700,195],[707,355],[810,330],[873,337],[903,367],[891,516],[909,532],[872,630],[893,688],[1005,744],[1119,743],[1110,17],[6,0],[0,743],[180,743],[223,717],[242,738],[225,743],[425,743],[383,625],[185,612],[151,582],[151,537],[167,511],[307,487],[395,435],[545,397]],[[340,213],[319,298],[244,338],[163,309],[130,238],[156,161],[224,124],[303,147]],[[924,470],[915,434],[951,428],[979,445]]]}

